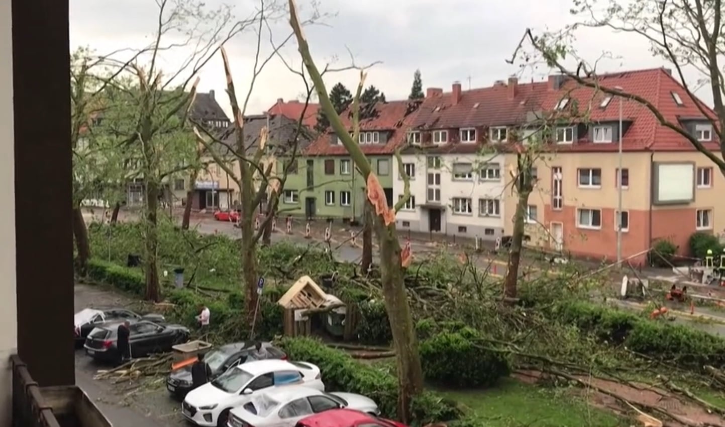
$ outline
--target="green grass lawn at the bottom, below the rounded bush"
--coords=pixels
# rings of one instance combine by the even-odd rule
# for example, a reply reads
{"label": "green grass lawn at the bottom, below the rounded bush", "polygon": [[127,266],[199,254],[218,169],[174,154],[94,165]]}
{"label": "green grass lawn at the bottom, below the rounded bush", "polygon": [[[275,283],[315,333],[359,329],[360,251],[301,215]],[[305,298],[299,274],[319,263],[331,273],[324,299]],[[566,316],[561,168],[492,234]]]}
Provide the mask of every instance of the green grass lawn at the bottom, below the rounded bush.
{"label": "green grass lawn at the bottom, below the rounded bush", "polygon": [[555,391],[507,378],[485,391],[442,391],[470,408],[470,415],[486,426],[510,427],[624,427],[616,414],[587,405],[561,389]]}

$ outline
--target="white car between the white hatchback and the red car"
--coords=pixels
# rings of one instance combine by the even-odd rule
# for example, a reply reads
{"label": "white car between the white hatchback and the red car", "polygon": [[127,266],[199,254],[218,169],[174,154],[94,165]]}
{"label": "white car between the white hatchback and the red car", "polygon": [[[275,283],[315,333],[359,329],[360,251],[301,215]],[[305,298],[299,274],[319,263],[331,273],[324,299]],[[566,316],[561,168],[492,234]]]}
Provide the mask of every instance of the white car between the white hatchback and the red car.
{"label": "white car between the white hatchback and the red car", "polygon": [[360,394],[311,389],[305,386],[270,389],[252,396],[249,402],[229,413],[228,427],[294,427],[308,415],[349,408],[380,415],[378,405]]}

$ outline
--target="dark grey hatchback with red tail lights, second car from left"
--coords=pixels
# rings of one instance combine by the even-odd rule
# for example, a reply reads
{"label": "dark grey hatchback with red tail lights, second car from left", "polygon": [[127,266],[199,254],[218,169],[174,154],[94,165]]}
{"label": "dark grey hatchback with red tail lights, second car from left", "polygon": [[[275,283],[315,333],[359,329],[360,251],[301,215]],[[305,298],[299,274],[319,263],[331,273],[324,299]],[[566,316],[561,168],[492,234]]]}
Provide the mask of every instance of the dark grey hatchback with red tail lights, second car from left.
{"label": "dark grey hatchback with red tail lights, second car from left", "polygon": [[[86,338],[86,354],[97,360],[120,362],[121,354],[116,346],[120,322],[106,322],[91,330]],[[152,353],[171,351],[176,344],[186,343],[190,335],[188,328],[181,325],[164,325],[139,320],[129,326],[131,357],[144,357]]]}

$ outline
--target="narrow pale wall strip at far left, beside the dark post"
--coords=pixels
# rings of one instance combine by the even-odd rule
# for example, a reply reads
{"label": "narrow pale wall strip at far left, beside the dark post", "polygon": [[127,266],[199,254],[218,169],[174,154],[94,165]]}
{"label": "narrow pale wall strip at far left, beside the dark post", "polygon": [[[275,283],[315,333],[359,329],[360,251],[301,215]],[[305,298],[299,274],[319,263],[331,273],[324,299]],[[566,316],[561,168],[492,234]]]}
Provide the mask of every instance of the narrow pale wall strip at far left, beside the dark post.
{"label": "narrow pale wall strip at far left, beside the dark post", "polygon": [[12,107],[12,14],[10,1],[0,1],[0,426],[12,422],[12,371],[10,354],[17,348],[15,304],[15,168]]}

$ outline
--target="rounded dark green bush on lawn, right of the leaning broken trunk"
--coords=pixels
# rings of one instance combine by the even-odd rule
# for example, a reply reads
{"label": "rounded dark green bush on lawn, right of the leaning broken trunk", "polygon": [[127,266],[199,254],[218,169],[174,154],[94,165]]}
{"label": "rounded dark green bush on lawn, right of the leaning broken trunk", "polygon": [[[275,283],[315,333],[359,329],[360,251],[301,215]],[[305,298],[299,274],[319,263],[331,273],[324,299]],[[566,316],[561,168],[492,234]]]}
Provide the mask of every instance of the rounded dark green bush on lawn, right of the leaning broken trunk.
{"label": "rounded dark green bush on lawn, right of the leaning broken trunk", "polygon": [[426,380],[452,387],[494,386],[510,374],[508,359],[481,344],[476,330],[444,331],[421,342]]}

